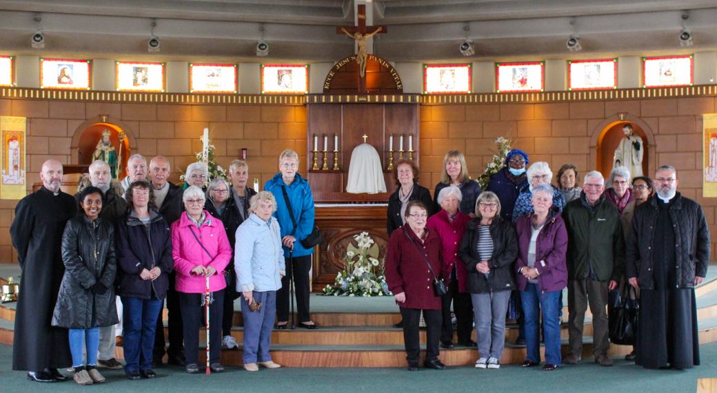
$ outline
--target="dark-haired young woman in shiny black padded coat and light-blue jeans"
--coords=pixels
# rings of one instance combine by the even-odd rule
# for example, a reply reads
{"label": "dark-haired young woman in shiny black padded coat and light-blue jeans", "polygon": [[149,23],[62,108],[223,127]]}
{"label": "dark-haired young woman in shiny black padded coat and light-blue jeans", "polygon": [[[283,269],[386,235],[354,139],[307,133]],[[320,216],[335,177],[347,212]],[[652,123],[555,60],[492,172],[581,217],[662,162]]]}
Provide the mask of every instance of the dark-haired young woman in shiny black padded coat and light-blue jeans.
{"label": "dark-haired young woman in shiny black padded coat and light-blue jeans", "polygon": [[[100,347],[100,327],[118,323],[115,306],[115,228],[100,218],[103,193],[87,187],[80,193],[76,218],[67,221],[62,234],[60,294],[52,314],[52,326],[70,329],[70,353],[75,382],[81,385],[105,382],[95,368]],[[87,363],[82,362],[82,344]]]}

